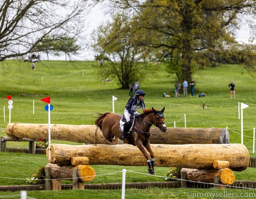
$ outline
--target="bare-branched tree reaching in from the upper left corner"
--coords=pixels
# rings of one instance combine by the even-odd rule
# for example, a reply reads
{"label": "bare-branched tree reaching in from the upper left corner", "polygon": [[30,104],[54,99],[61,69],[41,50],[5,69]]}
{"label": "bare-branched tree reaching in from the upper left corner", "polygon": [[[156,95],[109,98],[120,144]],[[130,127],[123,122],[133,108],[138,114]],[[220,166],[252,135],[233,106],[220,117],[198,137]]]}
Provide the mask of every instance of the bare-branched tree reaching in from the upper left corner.
{"label": "bare-branched tree reaching in from the upper left corner", "polygon": [[[89,0],[1,1],[0,61],[34,50],[47,51],[51,41],[63,43],[67,36],[78,39],[90,6]],[[65,53],[74,52],[58,47]]]}

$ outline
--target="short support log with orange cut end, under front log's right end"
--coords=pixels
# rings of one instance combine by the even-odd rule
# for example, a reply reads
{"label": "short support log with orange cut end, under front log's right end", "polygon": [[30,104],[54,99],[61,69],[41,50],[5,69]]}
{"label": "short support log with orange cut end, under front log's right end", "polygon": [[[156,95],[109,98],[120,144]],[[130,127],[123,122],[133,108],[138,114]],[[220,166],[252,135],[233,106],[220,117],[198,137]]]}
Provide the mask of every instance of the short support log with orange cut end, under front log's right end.
{"label": "short support log with orange cut end, under front log's right end", "polygon": [[225,168],[220,170],[207,170],[207,169],[187,169],[182,168],[181,171],[187,173],[187,179],[190,181],[200,181],[200,182],[214,182],[214,176],[218,175],[222,184],[232,185],[235,181],[235,175],[232,170]]}

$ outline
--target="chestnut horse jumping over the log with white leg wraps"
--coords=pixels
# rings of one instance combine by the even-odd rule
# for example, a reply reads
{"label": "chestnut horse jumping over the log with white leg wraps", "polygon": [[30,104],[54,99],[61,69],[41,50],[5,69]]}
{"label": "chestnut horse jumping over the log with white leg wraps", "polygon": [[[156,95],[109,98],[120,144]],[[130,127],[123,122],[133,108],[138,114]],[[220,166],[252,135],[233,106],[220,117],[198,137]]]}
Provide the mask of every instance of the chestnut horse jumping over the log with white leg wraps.
{"label": "chestnut horse jumping over the log with white leg wraps", "polygon": [[[124,140],[128,144],[136,145],[143,153],[147,159],[150,174],[155,174],[154,153],[150,146],[150,127],[155,125],[161,132],[166,132],[167,128],[164,123],[163,111],[164,107],[161,111],[156,111],[153,107],[152,109],[145,109],[140,115],[141,117],[134,119],[133,128]],[[95,125],[100,128],[105,139],[111,144],[117,144],[119,140],[114,139],[114,137],[116,136],[120,139],[122,135],[122,131],[119,127],[121,118],[122,115],[106,112],[104,114],[99,113],[99,117],[97,117],[95,121]],[[150,157],[144,147],[150,153]]]}

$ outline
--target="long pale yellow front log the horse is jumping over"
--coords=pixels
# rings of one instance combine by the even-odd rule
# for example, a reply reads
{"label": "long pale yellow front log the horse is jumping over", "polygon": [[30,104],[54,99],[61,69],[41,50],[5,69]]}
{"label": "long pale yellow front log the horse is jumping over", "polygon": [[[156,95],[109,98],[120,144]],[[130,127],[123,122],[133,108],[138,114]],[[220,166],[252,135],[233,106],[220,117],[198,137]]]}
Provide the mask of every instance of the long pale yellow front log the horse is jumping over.
{"label": "long pale yellow front log the horse is jumping over", "polygon": [[[151,145],[156,166],[191,169],[212,168],[214,160],[228,161],[230,169],[245,170],[249,152],[242,144]],[[48,148],[46,149],[47,159]],[[90,165],[111,164],[146,166],[143,154],[132,145],[63,145],[51,144],[53,164],[70,164],[72,157],[87,157]]]}

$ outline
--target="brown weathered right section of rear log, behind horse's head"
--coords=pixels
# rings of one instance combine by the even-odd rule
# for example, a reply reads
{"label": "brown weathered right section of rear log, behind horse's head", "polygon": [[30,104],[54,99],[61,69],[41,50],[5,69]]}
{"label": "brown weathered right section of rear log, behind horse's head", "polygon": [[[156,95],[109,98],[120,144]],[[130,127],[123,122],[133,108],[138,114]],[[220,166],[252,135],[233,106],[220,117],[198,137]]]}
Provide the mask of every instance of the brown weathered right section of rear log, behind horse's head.
{"label": "brown weathered right section of rear log, behind horse's head", "polygon": [[172,128],[165,133],[150,129],[151,144],[229,144],[229,132],[221,128]]}

